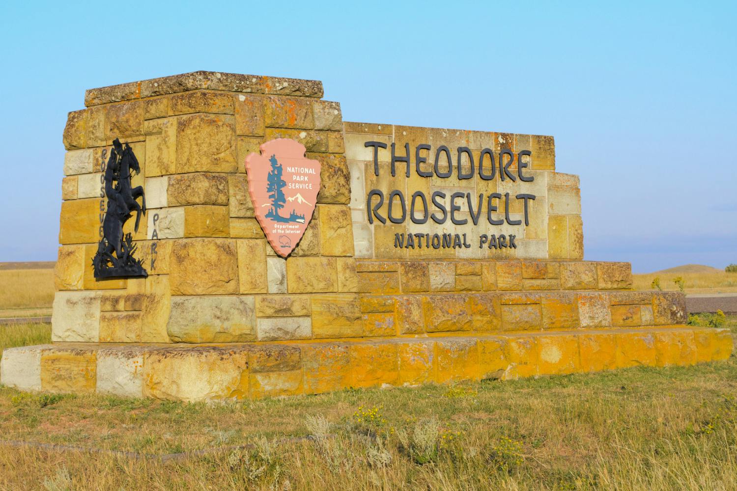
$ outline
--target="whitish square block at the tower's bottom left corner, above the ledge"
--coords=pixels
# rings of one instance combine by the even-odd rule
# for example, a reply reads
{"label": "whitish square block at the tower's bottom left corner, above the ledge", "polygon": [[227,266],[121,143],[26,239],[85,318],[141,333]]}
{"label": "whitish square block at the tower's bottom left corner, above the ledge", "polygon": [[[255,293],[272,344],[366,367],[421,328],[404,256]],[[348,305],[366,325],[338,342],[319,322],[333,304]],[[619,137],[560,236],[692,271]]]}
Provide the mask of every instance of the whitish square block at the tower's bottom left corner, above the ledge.
{"label": "whitish square block at the tower's bottom left corner, above the ledge", "polygon": [[98,342],[97,292],[56,292],[52,309],[52,341]]}

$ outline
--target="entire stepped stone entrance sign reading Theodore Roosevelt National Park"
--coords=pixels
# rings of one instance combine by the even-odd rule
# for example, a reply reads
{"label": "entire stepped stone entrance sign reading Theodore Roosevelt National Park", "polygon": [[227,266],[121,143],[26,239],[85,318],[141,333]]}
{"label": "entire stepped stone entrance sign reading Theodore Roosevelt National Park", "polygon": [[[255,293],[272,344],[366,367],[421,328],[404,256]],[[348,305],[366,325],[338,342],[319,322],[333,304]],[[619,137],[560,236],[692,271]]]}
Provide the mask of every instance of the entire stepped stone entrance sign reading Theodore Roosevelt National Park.
{"label": "entire stepped stone entrance sign reading Theodore Roosevelt National Park", "polygon": [[[0,381],[245,399],[730,356],[683,294],[584,261],[551,136],[347,122],[322,96],[206,71],[87,91],[63,133],[53,343],[5,350]],[[116,139],[147,275],[96,278]]]}

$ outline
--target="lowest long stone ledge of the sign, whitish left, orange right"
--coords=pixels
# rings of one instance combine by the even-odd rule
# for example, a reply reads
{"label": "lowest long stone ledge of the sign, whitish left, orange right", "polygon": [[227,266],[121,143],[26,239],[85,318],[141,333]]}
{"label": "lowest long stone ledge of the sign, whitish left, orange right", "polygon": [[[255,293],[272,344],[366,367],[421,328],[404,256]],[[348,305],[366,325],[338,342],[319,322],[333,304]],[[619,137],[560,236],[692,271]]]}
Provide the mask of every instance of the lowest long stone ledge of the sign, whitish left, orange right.
{"label": "lowest long stone ledge of the sign, whitish left, orange right", "polygon": [[684,325],[229,345],[57,343],[4,350],[0,382],[34,391],[242,400],[685,366],[724,360],[732,349],[726,329]]}

